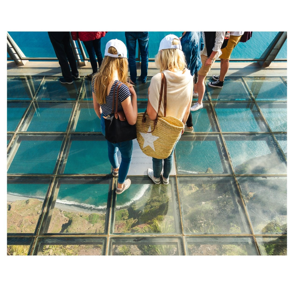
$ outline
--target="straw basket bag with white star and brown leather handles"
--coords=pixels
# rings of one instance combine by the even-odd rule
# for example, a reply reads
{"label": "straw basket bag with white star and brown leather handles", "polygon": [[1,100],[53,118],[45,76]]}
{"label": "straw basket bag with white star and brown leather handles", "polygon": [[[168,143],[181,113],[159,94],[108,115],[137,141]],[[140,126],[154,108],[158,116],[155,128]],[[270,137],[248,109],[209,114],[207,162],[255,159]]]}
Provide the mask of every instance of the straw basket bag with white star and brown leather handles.
{"label": "straw basket bag with white star and brown leather handles", "polygon": [[[158,117],[164,86],[164,116]],[[153,130],[151,130],[153,128]],[[166,116],[166,77],[161,73],[161,88],[158,102],[157,117],[153,121],[147,115],[147,109],[138,113],[136,122],[137,141],[144,154],[164,159],[170,156],[173,146],[180,136],[184,124],[178,118]]]}

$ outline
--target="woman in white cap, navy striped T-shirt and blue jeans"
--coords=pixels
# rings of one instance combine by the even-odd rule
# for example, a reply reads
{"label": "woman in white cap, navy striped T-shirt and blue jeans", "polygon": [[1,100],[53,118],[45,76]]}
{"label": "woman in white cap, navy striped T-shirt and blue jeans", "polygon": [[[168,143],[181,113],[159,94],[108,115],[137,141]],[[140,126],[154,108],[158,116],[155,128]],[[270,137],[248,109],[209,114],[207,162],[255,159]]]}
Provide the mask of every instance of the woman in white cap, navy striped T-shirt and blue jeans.
{"label": "woman in white cap, navy striped T-shirt and blue jeans", "polygon": [[[137,96],[133,86],[127,83],[127,49],[122,41],[115,39],[106,44],[104,59],[99,72],[93,76],[93,104],[97,116],[101,119],[101,132],[105,136],[104,117],[112,113],[113,91],[118,92],[118,112],[124,111],[130,125],[137,121]],[[132,96],[132,99],[131,99]],[[107,140],[106,140],[107,141]],[[107,141],[108,159],[113,167],[113,176],[118,176],[116,193],[121,194],[129,188],[131,180],[126,176],[131,164],[133,141],[111,143]],[[118,164],[117,151],[121,152],[121,165]]]}

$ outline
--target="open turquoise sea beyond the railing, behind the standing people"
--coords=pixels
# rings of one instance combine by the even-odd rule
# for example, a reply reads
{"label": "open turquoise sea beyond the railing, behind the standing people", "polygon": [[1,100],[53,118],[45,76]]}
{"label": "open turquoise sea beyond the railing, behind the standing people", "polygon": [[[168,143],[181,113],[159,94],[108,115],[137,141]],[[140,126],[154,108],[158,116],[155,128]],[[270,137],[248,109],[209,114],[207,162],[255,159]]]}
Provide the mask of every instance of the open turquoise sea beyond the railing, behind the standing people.
{"label": "open turquoise sea beyond the railing, behind the standing people", "polygon": [[[232,52],[231,58],[259,58],[278,32],[253,32],[246,43],[239,43]],[[27,57],[56,57],[47,32],[9,32],[16,44]],[[181,36],[181,31],[149,32],[149,58],[154,58],[158,52],[161,39],[168,35]],[[126,42],[124,32],[108,32],[101,39],[101,49],[104,55],[105,44],[111,39]],[[86,52],[86,50],[85,50]],[[287,40],[277,58],[287,58]]]}

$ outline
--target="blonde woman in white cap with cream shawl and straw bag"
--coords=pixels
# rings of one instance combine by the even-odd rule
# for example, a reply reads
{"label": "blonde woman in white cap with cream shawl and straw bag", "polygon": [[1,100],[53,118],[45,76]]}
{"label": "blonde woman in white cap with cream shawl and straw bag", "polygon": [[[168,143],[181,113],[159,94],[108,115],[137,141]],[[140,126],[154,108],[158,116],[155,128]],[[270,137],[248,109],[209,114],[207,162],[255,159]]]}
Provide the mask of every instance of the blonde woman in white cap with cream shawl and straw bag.
{"label": "blonde woman in white cap with cream shawl and straw bag", "polygon": [[[187,121],[193,97],[193,77],[186,68],[185,56],[181,49],[180,39],[175,35],[167,35],[160,42],[158,54],[155,56],[155,64],[160,73],[151,78],[147,104],[147,114],[152,120],[156,119],[157,116],[161,73],[163,73],[167,84],[166,116],[176,117],[184,125]],[[163,116],[163,113],[164,108],[163,103],[161,103],[158,115]],[[181,134],[178,140],[180,137]],[[167,185],[169,183],[175,147],[176,144],[170,156],[163,159],[164,165],[162,165],[162,159],[152,158],[153,170],[148,168],[147,175],[154,183],[160,183],[160,175],[162,175],[163,184]],[[163,173],[161,173],[162,167]]]}

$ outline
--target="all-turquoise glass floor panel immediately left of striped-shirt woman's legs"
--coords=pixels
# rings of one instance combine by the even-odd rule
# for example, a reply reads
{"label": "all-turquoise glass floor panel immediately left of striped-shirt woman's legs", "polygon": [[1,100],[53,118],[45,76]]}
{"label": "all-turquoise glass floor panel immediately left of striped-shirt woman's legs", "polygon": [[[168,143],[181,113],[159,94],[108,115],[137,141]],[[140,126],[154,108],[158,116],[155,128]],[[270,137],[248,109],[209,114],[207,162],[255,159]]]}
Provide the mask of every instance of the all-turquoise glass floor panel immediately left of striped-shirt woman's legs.
{"label": "all-turquoise glass floor panel immediately left of striped-shirt woman's legs", "polygon": [[64,160],[63,173],[109,174],[107,143],[104,136],[71,135]]}

